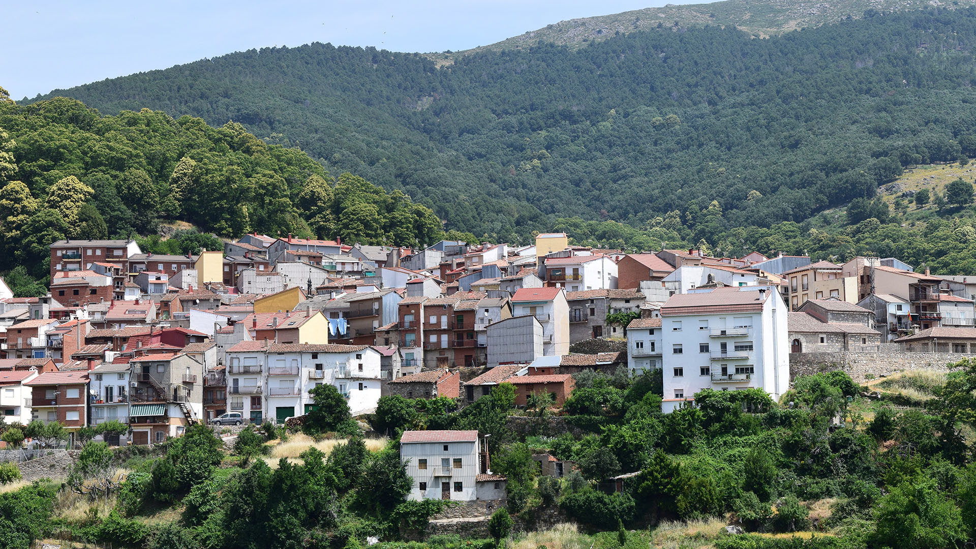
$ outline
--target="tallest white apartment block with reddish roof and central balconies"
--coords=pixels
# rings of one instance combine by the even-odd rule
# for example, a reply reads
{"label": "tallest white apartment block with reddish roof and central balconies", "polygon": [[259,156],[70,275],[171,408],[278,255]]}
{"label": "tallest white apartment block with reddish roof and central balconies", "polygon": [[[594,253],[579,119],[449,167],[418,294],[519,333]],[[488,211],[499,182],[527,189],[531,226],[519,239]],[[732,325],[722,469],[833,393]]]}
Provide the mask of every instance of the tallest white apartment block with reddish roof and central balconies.
{"label": "tallest white apartment block with reddish roof and central balconies", "polygon": [[788,313],[771,286],[672,296],[661,307],[663,411],[703,389],[759,388],[779,399],[790,387]]}

